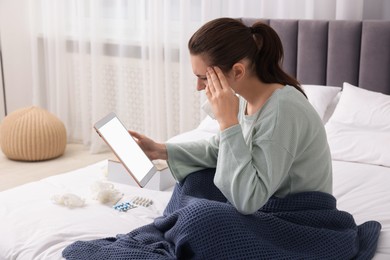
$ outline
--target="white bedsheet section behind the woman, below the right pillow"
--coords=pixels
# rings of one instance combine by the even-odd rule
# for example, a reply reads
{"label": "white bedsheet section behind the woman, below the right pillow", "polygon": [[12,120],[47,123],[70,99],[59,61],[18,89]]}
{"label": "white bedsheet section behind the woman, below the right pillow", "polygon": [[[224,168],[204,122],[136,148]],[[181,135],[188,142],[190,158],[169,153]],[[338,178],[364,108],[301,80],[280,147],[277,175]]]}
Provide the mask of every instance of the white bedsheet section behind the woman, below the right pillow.
{"label": "white bedsheet section behind the woman, below the right pillow", "polygon": [[390,259],[390,168],[333,161],[333,195],[337,208],[351,213],[357,224],[382,224],[374,259]]}

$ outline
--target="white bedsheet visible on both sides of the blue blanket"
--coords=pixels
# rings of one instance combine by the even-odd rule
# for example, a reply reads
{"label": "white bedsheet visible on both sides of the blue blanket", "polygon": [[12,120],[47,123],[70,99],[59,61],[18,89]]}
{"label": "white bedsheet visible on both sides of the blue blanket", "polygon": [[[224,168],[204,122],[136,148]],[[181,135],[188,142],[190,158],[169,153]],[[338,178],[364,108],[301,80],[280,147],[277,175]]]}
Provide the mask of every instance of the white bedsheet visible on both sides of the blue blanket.
{"label": "white bedsheet visible on both sides of the blue blanket", "polygon": [[[62,259],[64,247],[127,233],[160,216],[170,192],[115,184],[126,198],[153,199],[149,208],[118,212],[91,198],[90,186],[104,176],[107,162],[50,177],[0,193],[0,259]],[[338,208],[352,213],[358,224],[377,220],[382,231],[375,259],[390,259],[390,168],[334,161],[334,195]],[[84,208],[53,204],[56,193],[75,193]]]}

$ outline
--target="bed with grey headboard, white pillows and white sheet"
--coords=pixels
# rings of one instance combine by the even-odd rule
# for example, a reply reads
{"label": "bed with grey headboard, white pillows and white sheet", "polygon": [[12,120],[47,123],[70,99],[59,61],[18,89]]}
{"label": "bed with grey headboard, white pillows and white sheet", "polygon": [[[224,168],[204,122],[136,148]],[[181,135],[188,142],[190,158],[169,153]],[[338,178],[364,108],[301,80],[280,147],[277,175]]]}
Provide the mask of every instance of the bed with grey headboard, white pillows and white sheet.
{"label": "bed with grey headboard, white pillows and white sheet", "polygon": [[[303,84],[323,119],[337,208],[357,224],[378,221],[374,259],[390,259],[390,21],[262,21],[280,35],[284,68]],[[217,123],[206,117],[168,141],[209,138],[217,131]],[[163,214],[173,187],[161,191],[108,182],[107,167],[104,160],[1,192],[0,259],[62,259],[62,250],[77,240],[127,233]],[[96,198],[96,183],[111,184],[122,201],[142,197],[153,203],[117,210]],[[84,205],[53,203],[53,195],[67,193],[77,194]]]}

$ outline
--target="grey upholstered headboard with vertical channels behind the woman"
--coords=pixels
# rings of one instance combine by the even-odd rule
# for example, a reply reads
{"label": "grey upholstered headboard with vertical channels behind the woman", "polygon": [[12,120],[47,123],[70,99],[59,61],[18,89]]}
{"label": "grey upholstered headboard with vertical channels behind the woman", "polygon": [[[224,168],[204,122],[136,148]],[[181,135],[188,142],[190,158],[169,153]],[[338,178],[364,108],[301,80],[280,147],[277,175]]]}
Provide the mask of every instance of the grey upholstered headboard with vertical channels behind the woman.
{"label": "grey upholstered headboard with vertical channels behind the woman", "polygon": [[390,21],[261,20],[279,34],[283,67],[301,84],[349,82],[390,94]]}

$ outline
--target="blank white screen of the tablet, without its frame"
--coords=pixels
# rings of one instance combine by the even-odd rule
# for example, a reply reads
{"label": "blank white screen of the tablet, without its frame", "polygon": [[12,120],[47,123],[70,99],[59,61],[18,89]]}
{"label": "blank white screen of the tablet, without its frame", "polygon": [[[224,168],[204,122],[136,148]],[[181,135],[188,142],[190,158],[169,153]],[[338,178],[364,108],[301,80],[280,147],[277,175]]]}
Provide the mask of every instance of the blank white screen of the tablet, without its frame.
{"label": "blank white screen of the tablet, without its frame", "polygon": [[99,131],[135,178],[139,181],[142,180],[153,167],[153,163],[129,132],[127,132],[119,119],[114,117],[99,128]]}

